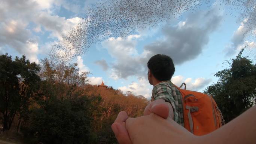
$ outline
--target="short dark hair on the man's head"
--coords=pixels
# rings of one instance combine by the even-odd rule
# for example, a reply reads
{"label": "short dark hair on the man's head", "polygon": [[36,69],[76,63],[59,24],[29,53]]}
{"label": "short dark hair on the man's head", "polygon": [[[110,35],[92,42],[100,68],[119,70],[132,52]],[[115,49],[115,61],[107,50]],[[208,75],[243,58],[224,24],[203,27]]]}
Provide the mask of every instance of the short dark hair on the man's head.
{"label": "short dark hair on the man's head", "polygon": [[161,54],[152,56],[147,62],[147,67],[153,76],[160,81],[170,80],[175,71],[173,59]]}

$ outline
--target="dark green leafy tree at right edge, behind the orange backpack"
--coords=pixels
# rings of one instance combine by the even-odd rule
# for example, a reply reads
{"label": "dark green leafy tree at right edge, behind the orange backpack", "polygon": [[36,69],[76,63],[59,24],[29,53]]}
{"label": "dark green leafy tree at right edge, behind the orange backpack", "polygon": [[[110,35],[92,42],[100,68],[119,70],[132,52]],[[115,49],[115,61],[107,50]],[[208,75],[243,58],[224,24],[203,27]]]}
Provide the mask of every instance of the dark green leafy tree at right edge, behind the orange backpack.
{"label": "dark green leafy tree at right edge, behind the orange backpack", "polygon": [[219,77],[219,81],[205,89],[214,96],[226,122],[256,102],[256,64],[242,56],[243,50],[232,62],[226,61],[230,68],[218,71],[214,76]]}

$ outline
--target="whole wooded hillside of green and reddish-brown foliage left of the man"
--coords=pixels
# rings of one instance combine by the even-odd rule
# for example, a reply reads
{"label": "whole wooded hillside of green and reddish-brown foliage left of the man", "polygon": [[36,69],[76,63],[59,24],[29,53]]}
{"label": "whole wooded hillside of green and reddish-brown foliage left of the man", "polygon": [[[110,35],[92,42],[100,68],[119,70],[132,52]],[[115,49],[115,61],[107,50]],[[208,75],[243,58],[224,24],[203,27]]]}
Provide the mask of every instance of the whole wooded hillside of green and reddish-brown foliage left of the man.
{"label": "whole wooded hillside of green and reddish-brown foliage left of the man", "polygon": [[80,72],[76,63],[40,64],[0,56],[0,123],[7,120],[10,129],[18,121],[26,143],[117,144],[111,125],[119,111],[141,116],[148,103],[141,95],[89,85],[89,72]]}

